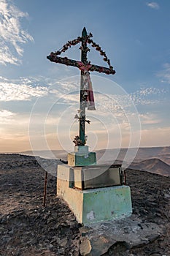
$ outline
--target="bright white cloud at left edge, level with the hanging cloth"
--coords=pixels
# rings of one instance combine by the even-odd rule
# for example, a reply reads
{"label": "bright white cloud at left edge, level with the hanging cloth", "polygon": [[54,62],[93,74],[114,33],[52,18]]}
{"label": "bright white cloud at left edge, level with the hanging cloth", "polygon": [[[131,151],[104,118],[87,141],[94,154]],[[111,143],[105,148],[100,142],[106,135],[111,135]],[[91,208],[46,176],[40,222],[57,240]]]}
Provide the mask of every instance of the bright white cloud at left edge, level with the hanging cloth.
{"label": "bright white cloud at left edge, level with the hanging cloth", "polygon": [[32,97],[47,95],[47,87],[36,86],[36,81],[28,78],[8,80],[0,77],[0,101],[31,100]]}

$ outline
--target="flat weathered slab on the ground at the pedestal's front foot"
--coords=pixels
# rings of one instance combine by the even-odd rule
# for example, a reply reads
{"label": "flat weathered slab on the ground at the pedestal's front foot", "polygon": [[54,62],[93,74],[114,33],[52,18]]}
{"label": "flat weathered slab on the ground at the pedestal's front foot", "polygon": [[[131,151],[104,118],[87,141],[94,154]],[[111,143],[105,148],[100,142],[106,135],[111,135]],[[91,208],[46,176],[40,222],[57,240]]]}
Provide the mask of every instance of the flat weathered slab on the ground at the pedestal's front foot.
{"label": "flat weathered slab on the ground at the pedestal's front foot", "polygon": [[81,227],[81,255],[100,256],[108,252],[117,242],[127,249],[149,244],[163,234],[163,226],[153,222],[142,222],[132,215],[126,219],[96,223]]}

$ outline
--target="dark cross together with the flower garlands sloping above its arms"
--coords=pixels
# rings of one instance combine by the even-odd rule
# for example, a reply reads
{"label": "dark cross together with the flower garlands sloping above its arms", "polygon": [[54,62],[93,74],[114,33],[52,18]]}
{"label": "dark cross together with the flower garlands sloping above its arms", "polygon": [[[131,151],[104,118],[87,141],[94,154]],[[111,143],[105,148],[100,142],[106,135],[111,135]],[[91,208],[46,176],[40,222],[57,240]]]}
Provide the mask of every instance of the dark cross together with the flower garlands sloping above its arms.
{"label": "dark cross together with the flower garlands sloping above its arms", "polygon": [[[90,83],[90,71],[96,71],[96,72],[102,72],[105,74],[115,74],[115,70],[110,66],[109,59],[107,59],[106,53],[101,50],[99,45],[96,45],[95,42],[93,42],[92,39],[92,34],[88,35],[86,29],[84,28],[82,30],[82,37],[77,37],[77,39],[74,39],[73,41],[69,41],[66,45],[63,45],[63,49],[60,51],[58,50],[55,53],[50,53],[50,56],[47,56],[47,59],[50,61],[53,61],[55,63],[59,64],[65,64],[67,66],[73,66],[73,67],[78,67],[81,70],[81,79],[80,79],[80,145],[84,146],[85,145],[85,121],[88,121],[85,119],[85,108],[86,108],[86,102],[87,102],[87,97],[91,96],[91,101],[90,103],[93,104],[93,91],[89,91],[90,94],[87,94],[87,88],[85,89],[85,81]],[[82,46],[80,47],[81,49],[81,61],[75,61],[73,59],[68,59],[68,58],[62,58],[58,57],[61,52],[65,52],[69,47],[72,45],[76,45],[77,43],[82,42]],[[87,43],[93,42],[93,47],[96,47],[96,50],[100,50],[100,53],[102,56],[104,56],[104,60],[107,61],[109,64],[109,68],[107,67],[101,67],[98,65],[93,65],[88,62],[87,58],[87,53],[90,50],[87,46]],[[94,108],[94,105],[92,105],[92,109]],[[90,121],[88,121],[90,122]]]}

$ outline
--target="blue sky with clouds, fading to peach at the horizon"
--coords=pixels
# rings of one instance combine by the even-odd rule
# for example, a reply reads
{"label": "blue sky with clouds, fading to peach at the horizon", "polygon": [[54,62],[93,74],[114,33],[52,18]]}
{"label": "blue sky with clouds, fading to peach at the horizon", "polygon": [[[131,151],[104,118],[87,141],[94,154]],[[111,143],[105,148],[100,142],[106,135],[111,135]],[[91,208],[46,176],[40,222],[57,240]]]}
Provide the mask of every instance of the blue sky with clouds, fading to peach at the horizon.
{"label": "blue sky with clouds, fading to peach at the horizon", "polygon": [[[90,150],[169,146],[169,12],[167,0],[1,0],[0,152],[74,148],[80,70],[47,56],[84,26],[116,71],[90,73]],[[79,47],[61,57],[80,60]],[[94,48],[88,60],[107,67]]]}

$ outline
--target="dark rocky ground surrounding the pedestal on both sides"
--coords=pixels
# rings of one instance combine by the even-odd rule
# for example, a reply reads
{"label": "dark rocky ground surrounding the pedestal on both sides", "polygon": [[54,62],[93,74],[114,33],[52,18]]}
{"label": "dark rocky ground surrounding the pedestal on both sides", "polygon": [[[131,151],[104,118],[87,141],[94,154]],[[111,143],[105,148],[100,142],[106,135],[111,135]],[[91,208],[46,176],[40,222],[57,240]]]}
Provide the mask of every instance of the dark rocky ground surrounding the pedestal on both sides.
{"label": "dark rocky ground surrounding the pedestal on both sides", "polygon": [[[44,178],[45,170],[34,157],[0,155],[1,256],[83,255],[82,227],[55,196],[56,177],[50,174],[46,207],[42,206]],[[169,256],[170,178],[127,170],[127,184],[131,187],[133,216],[142,223],[140,228],[152,223],[163,233],[140,246],[129,247],[117,241],[103,255]]]}

